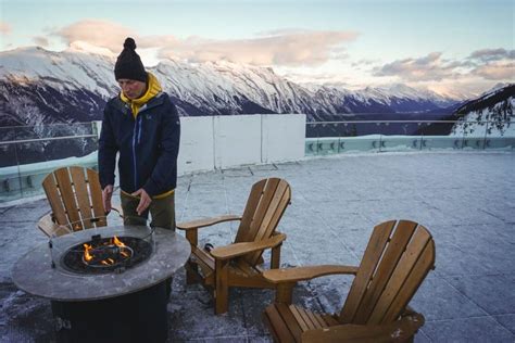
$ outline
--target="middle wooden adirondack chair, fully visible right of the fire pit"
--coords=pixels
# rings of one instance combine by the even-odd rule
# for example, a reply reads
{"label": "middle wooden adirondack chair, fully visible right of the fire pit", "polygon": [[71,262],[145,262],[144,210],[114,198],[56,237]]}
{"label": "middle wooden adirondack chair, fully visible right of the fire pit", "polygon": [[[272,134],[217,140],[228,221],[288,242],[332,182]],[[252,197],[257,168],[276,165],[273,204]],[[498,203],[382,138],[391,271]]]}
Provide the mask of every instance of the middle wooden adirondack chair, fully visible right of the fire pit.
{"label": "middle wooden adirondack chair, fully visible right of the fire pit", "polygon": [[[215,298],[215,313],[227,312],[229,287],[275,288],[263,278],[262,254],[272,249],[271,268],[279,267],[280,246],[286,234],[277,232],[277,225],[290,203],[291,190],[287,181],[263,179],[252,186],[243,215],[225,215],[215,218],[181,223],[177,228],[186,231],[191,243],[191,257],[186,265],[187,282],[200,280]],[[211,252],[198,245],[198,230],[228,220],[241,220],[233,244]]]}

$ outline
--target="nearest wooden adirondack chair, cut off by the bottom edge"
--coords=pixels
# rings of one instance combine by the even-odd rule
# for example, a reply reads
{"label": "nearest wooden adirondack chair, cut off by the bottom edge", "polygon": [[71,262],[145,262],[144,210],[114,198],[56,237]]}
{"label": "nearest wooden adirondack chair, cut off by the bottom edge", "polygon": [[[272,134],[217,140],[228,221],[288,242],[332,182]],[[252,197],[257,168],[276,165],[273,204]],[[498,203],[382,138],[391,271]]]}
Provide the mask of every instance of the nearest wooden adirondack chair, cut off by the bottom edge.
{"label": "nearest wooden adirondack chair, cut off by the bottom edge", "polygon": [[[424,317],[407,303],[434,267],[435,242],[425,227],[409,220],[386,221],[374,228],[359,267],[265,271],[264,277],[278,288],[263,318],[276,342],[410,342]],[[335,274],[355,275],[340,314],[315,314],[290,305],[298,281]]]}

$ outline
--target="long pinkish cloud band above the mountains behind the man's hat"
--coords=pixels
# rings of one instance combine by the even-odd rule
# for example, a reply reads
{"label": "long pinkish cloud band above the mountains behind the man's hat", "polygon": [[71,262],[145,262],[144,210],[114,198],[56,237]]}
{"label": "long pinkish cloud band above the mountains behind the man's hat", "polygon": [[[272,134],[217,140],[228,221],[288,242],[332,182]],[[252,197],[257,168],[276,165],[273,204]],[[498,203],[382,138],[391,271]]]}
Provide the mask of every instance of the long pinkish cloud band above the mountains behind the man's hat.
{"label": "long pinkish cloud band above the mountains behind the man's hat", "polygon": [[158,58],[190,62],[227,60],[254,65],[319,65],[346,58],[342,45],[357,37],[353,31],[281,29],[260,33],[255,38],[214,40],[202,37],[139,36],[131,29],[106,21],[85,20],[63,27],[54,35],[67,45],[84,41],[117,53],[128,36],[140,49],[156,49]]}

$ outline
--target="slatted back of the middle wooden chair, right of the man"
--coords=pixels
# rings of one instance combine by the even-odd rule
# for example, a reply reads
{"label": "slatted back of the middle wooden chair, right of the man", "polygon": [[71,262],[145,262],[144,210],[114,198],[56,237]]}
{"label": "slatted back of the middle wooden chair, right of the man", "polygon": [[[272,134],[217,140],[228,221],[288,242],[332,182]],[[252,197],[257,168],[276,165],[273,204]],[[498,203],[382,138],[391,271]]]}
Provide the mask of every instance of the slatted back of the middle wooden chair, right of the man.
{"label": "slatted back of the middle wooden chair, right of the man", "polygon": [[[255,242],[271,238],[291,200],[287,181],[268,178],[252,186],[246,208],[236,234],[235,243]],[[241,257],[250,265],[260,261],[263,251]]]}

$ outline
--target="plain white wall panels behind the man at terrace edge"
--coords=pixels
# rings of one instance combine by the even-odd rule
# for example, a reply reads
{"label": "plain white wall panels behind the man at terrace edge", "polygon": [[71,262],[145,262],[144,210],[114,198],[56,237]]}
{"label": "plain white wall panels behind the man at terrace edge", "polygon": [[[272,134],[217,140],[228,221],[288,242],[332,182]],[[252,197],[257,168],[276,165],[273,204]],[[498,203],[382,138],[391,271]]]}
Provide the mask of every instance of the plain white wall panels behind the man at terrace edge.
{"label": "plain white wall panels behind the man at terrace edge", "polygon": [[181,117],[178,174],[304,157],[305,115]]}

